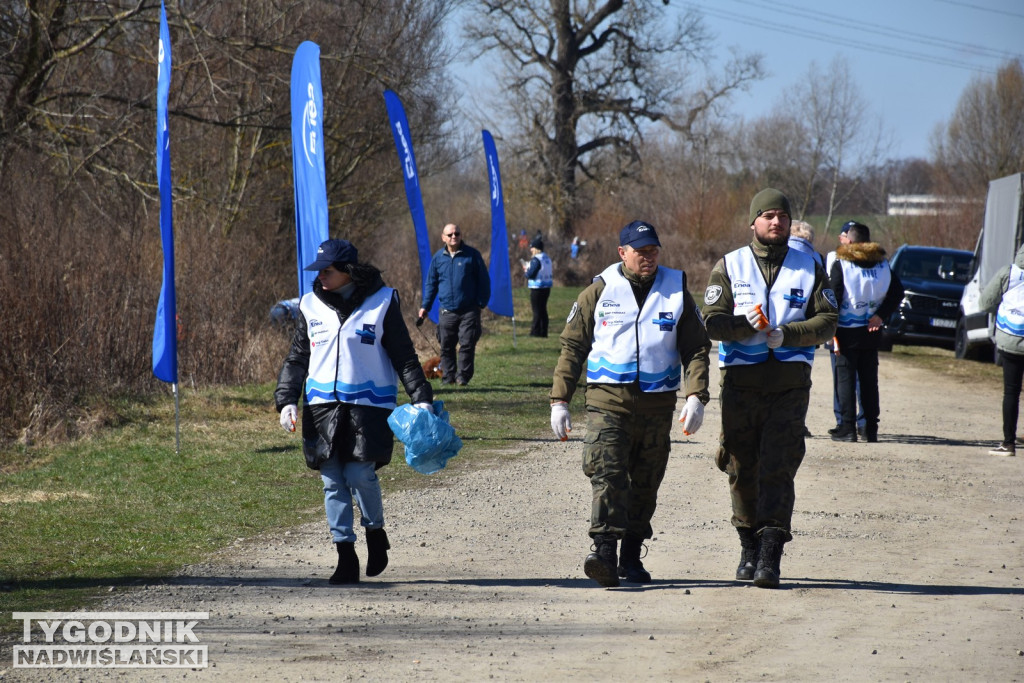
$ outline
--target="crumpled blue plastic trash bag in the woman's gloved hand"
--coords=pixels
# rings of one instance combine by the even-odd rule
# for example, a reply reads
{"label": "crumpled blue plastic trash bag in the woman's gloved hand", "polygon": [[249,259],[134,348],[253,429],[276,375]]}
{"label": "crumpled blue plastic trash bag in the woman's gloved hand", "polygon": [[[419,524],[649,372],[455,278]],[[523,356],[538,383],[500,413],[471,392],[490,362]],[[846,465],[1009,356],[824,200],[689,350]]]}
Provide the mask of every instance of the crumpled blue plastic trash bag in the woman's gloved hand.
{"label": "crumpled blue plastic trash bag in the woman's gloved hand", "polygon": [[462,449],[462,439],[449,424],[444,401],[434,401],[433,415],[412,403],[402,403],[391,412],[387,423],[406,445],[406,462],[420,474],[440,472]]}

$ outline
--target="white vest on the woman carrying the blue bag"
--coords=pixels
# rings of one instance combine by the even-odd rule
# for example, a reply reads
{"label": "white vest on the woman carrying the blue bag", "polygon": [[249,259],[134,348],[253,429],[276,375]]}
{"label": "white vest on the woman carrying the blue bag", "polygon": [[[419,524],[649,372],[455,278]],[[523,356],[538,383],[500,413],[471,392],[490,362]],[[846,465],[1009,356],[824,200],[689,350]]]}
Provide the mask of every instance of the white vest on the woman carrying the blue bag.
{"label": "white vest on the woman carrying the blue bag", "polygon": [[312,292],[302,297],[299,309],[309,337],[307,403],[342,401],[387,409],[397,404],[398,374],[381,346],[392,292],[382,287],[371,294],[344,325]]}

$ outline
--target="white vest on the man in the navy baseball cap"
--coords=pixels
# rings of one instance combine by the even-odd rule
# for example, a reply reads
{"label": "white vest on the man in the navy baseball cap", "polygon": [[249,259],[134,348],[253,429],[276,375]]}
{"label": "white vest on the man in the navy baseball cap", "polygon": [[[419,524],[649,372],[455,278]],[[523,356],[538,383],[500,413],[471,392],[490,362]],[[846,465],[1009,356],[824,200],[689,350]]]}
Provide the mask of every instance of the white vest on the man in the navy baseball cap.
{"label": "white vest on the man in the navy baseball cap", "polygon": [[641,391],[676,391],[682,373],[676,334],[683,315],[683,272],[659,266],[640,309],[618,268],[616,263],[599,275],[604,291],[594,311],[587,381],[639,382]]}

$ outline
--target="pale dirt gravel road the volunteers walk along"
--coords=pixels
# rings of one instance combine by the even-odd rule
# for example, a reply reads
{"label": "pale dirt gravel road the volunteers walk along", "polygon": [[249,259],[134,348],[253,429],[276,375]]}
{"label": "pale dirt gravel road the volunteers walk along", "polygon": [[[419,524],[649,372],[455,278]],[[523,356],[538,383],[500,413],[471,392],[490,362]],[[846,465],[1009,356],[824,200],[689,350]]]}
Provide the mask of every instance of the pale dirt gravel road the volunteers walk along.
{"label": "pale dirt gravel road the volunteers walk along", "polygon": [[329,586],[317,522],[103,605],[209,611],[207,669],[13,670],[6,648],[0,668],[14,681],[1024,680],[1024,457],[987,455],[1000,388],[889,355],[881,377],[880,442],[834,443],[819,351],[779,590],[732,581],[713,400],[698,434],[675,433],[649,586],[583,573],[577,415],[567,443],[525,440],[501,465],[433,475],[442,487],[387,494],[391,565],[375,580]]}

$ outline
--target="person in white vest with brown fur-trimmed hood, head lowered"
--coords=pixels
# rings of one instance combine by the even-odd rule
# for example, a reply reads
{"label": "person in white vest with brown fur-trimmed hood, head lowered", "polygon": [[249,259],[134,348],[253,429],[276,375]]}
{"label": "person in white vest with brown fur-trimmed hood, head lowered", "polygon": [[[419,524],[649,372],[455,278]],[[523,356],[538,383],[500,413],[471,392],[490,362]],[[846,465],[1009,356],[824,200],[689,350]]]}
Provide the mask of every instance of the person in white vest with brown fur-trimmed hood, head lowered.
{"label": "person in white vest with brown fur-trimmed hood, head lowered", "polygon": [[871,242],[867,225],[854,222],[848,243],[836,250],[828,282],[839,301],[836,330],[836,393],[842,422],[830,430],[834,441],[857,440],[857,392],[864,410],[864,438],[879,440],[879,346],[885,321],[899,308],[903,285]]}

